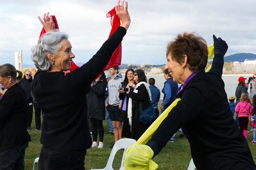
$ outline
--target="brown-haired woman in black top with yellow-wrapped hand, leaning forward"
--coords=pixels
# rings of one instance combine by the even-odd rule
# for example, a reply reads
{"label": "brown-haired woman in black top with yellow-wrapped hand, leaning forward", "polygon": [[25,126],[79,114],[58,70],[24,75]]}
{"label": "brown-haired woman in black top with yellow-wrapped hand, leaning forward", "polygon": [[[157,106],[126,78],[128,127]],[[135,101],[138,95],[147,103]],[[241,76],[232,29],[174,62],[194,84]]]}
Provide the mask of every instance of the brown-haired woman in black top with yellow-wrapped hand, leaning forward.
{"label": "brown-haired woman in black top with yellow-wrapped hand, leaning forward", "polygon": [[228,46],[215,35],[213,39],[214,59],[208,73],[204,70],[208,49],[201,36],[185,32],[168,43],[165,69],[181,84],[176,95],[181,100],[146,145],[130,148],[125,157],[126,168],[144,166],[139,161],[142,158],[150,162],[182,128],[197,170],[256,169],[247,141],[231,116],[221,77]]}

